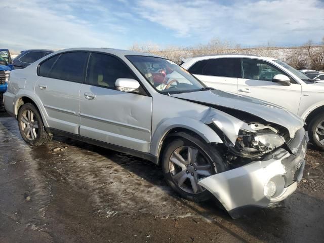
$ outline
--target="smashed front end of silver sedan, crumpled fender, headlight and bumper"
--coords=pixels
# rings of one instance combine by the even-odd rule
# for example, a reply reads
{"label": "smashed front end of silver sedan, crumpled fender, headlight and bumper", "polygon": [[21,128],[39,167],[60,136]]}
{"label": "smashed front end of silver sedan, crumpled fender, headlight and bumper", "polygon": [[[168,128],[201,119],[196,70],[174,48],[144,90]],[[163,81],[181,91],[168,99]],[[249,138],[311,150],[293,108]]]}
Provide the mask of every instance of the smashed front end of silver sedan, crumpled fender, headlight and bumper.
{"label": "smashed front end of silver sedan, crumpled fender, headlight and bumper", "polygon": [[222,138],[230,170],[198,184],[213,193],[232,218],[274,206],[292,194],[303,176],[307,147],[302,127],[291,137],[285,127],[257,116],[245,113],[239,118],[210,108],[201,119]]}

